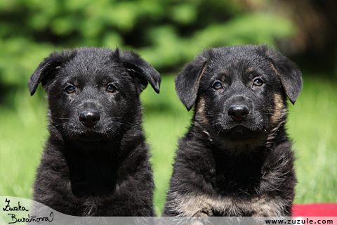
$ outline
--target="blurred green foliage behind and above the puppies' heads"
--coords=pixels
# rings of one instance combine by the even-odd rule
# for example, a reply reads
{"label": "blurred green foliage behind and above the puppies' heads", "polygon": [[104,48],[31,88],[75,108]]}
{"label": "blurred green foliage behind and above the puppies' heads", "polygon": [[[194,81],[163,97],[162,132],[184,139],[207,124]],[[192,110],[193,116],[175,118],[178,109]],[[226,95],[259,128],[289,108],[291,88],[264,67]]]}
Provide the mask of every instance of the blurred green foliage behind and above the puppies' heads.
{"label": "blurred green foliage behind and above the puppies' heads", "polygon": [[[165,73],[178,71],[210,46],[276,44],[296,32],[291,21],[249,11],[243,2],[0,1],[0,96],[13,102],[13,93],[26,87],[41,60],[62,49],[133,49]],[[269,3],[260,1],[262,7]]]}

